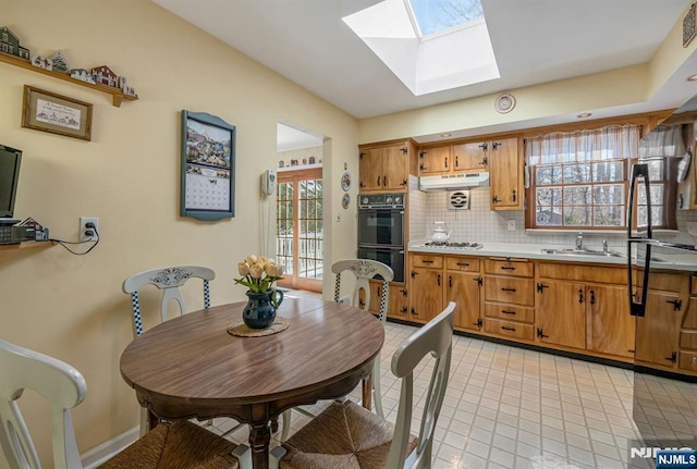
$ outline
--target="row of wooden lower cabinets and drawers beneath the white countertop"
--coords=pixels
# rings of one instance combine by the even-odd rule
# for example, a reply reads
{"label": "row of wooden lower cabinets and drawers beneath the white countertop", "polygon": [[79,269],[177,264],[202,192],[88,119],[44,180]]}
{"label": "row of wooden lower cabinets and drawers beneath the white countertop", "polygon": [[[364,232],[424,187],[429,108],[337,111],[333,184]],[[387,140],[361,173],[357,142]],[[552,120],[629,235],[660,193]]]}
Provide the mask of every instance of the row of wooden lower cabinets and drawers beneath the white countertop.
{"label": "row of wooden lower cabinets and drawers beneath the white countertop", "polygon": [[635,318],[624,266],[421,252],[408,266],[390,317],[425,323],[455,301],[458,331],[697,374],[689,272],[652,274],[647,313]]}

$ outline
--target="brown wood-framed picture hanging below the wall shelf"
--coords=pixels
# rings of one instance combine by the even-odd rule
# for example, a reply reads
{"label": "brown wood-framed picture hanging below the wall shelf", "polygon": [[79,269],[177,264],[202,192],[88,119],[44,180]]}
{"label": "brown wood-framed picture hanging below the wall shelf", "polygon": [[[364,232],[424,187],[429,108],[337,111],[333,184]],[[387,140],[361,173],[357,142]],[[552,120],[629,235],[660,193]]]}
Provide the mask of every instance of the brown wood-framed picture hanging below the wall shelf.
{"label": "brown wood-framed picture hanging below the wall shelf", "polygon": [[24,85],[22,126],[90,140],[91,104]]}

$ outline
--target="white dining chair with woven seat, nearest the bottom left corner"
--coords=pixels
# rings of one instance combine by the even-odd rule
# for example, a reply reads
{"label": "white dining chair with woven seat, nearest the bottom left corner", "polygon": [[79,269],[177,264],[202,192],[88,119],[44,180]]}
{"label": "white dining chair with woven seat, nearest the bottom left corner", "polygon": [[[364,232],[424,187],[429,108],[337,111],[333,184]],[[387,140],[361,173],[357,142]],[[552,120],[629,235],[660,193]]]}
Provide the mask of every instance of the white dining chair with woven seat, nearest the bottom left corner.
{"label": "white dining chair with woven seat, nearest the bottom left corner", "polygon": [[[51,443],[58,469],[81,469],[70,409],[87,396],[87,383],[70,365],[0,340],[0,446],[11,468],[40,469],[20,399],[30,390],[50,405]],[[101,469],[250,469],[246,445],[189,421],[166,422],[99,466]]]}

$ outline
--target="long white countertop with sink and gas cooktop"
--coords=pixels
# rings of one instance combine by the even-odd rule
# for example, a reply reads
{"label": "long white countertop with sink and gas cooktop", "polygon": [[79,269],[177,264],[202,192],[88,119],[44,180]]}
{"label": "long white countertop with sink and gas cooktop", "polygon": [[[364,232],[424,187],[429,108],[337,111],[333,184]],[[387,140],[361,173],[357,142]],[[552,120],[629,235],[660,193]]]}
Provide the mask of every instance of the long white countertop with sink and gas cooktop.
{"label": "long white countertop with sink and gas cooktop", "polygon": [[[597,249],[596,246],[592,247]],[[555,260],[564,262],[594,262],[594,263],[607,263],[610,266],[626,266],[627,257],[626,250],[611,248],[611,252],[616,252],[620,256],[598,256],[598,255],[561,255],[561,254],[547,254],[543,249],[573,249],[570,246],[558,245],[542,245],[542,244],[513,244],[513,243],[482,243],[480,249],[462,249],[462,248],[449,248],[449,247],[433,247],[425,246],[423,242],[409,243],[409,252],[428,252],[428,254],[442,254],[442,255],[460,255],[460,256],[491,256],[491,257],[512,257],[524,259],[540,259],[540,260]],[[682,255],[653,255],[651,261],[651,269],[667,269],[667,270],[695,270],[697,271],[697,256],[682,256]],[[640,259],[632,259],[632,263],[635,266],[644,266],[644,261]]]}

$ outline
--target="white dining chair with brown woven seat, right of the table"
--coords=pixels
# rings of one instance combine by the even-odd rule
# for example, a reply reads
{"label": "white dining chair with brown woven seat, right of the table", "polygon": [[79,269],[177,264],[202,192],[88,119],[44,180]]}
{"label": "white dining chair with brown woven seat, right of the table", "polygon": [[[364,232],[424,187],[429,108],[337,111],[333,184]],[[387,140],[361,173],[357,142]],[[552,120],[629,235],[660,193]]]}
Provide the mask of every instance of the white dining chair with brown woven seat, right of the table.
{"label": "white dining chair with brown woven seat, right of the table", "polygon": [[[392,355],[401,380],[394,425],[357,404],[332,403],[281,446],[271,449],[270,469],[429,469],[433,434],[445,396],[453,342],[455,303],[409,335]],[[414,370],[435,358],[418,437],[412,435]]]}

